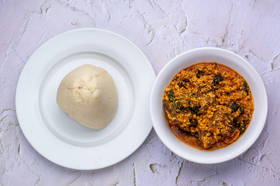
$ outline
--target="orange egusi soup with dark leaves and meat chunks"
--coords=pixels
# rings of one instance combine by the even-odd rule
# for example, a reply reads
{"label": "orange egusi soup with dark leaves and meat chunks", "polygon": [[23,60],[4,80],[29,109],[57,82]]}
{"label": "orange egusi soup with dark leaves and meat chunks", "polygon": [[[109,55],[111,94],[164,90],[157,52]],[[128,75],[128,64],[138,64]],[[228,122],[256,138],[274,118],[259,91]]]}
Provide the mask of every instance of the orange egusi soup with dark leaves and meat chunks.
{"label": "orange egusi soup with dark leaves and meat chunks", "polygon": [[170,130],[198,149],[232,144],[245,132],[254,112],[246,80],[217,63],[181,70],[166,87],[162,102]]}

